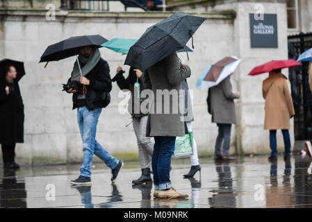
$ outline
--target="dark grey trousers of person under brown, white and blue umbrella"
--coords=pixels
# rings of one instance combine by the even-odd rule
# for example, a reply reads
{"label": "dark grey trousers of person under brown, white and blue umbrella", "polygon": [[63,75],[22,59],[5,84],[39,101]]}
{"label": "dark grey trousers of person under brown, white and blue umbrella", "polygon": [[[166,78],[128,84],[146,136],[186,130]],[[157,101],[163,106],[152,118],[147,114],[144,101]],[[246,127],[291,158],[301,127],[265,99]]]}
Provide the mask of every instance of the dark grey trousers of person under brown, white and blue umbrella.
{"label": "dark grey trousers of person under brown, white and blue umbrella", "polygon": [[215,142],[215,155],[222,155],[221,146],[223,142],[223,155],[229,155],[231,144],[231,124],[217,123],[219,127],[219,134]]}

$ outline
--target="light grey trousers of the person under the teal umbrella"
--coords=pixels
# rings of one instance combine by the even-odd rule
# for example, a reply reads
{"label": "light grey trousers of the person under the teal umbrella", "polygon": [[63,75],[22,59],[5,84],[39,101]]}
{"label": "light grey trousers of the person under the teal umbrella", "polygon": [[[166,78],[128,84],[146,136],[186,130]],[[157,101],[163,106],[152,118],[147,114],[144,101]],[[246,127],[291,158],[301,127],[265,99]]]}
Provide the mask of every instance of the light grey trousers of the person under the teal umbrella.
{"label": "light grey trousers of the person under the teal umbrella", "polygon": [[136,139],[138,141],[139,158],[141,168],[150,168],[150,160],[154,149],[154,144],[151,142],[151,137],[146,136],[147,116],[145,117],[133,117],[133,129],[136,133]]}

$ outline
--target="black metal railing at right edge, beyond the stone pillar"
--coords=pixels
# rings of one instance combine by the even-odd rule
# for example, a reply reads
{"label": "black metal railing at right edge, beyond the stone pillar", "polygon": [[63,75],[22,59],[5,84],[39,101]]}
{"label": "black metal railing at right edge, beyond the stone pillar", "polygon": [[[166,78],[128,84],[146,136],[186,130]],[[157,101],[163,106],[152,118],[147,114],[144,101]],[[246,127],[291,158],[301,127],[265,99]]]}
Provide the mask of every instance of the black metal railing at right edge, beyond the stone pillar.
{"label": "black metal railing at right edge, beyond the stone pillar", "polygon": [[[293,45],[295,58],[298,58],[301,53],[312,48],[312,33],[288,36],[288,42]],[[302,62],[302,66],[293,71],[296,73],[295,96],[292,94],[296,112],[295,139],[312,139],[312,98],[308,83],[309,62]]]}

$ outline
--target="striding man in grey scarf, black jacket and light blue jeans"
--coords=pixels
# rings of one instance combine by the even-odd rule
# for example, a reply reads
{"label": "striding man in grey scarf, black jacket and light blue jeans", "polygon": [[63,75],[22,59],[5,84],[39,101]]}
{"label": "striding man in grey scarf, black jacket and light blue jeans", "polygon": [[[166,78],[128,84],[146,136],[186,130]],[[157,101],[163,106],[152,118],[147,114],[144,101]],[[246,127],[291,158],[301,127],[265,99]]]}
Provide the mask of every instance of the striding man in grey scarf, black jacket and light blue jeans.
{"label": "striding man in grey scarf, black jacket and light blue jeans", "polygon": [[[112,84],[109,66],[101,58],[99,49],[92,46],[81,47],[78,59],[79,64],[77,61],[74,63],[72,76],[69,78],[67,85],[79,81],[79,87],[78,89],[70,88],[67,92],[73,93],[73,110],[77,108],[79,130],[83,141],[83,164],[79,178],[72,180],[70,183],[72,185],[91,184],[91,165],[94,154],[110,167],[112,170],[110,180],[115,182],[123,163],[110,155],[95,139],[101,110],[106,108],[110,102],[109,92],[112,89]],[[83,76],[81,76],[81,73]]]}

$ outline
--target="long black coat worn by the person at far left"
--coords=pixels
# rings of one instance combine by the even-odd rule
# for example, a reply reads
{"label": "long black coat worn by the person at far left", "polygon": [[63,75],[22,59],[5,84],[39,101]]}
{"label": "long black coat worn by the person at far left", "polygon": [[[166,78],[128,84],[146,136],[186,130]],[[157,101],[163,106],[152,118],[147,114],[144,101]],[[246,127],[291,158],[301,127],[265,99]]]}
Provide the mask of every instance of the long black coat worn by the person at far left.
{"label": "long black coat worn by the person at far left", "polygon": [[0,80],[0,144],[24,142],[24,104],[17,80],[14,92],[6,94],[9,85],[5,78]]}

